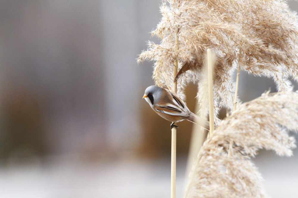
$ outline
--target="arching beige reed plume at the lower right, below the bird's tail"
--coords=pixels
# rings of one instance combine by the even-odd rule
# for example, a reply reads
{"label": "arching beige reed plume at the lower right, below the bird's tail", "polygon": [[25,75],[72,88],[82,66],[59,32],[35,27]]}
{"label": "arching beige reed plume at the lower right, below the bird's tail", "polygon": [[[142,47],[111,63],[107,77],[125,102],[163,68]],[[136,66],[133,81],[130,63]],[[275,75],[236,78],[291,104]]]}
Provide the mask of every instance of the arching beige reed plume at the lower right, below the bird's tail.
{"label": "arching beige reed plume at the lower right, below the bird's tail", "polygon": [[[287,130],[297,129],[298,92],[266,93],[242,104],[204,143],[185,197],[267,197],[250,158],[262,148],[291,156],[296,145]],[[231,138],[233,155],[227,157]]]}

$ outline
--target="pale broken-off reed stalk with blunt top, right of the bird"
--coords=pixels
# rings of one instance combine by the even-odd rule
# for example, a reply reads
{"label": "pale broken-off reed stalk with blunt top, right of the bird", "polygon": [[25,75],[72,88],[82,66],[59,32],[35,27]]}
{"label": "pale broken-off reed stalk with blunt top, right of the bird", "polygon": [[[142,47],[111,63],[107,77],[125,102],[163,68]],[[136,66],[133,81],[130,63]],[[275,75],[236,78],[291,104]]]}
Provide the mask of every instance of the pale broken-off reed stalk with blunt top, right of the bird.
{"label": "pale broken-off reed stalk with blunt top, right of the bird", "polygon": [[209,95],[209,122],[210,122],[210,137],[214,131],[214,107],[213,107],[213,60],[211,50],[207,50],[207,66],[208,66],[208,95]]}

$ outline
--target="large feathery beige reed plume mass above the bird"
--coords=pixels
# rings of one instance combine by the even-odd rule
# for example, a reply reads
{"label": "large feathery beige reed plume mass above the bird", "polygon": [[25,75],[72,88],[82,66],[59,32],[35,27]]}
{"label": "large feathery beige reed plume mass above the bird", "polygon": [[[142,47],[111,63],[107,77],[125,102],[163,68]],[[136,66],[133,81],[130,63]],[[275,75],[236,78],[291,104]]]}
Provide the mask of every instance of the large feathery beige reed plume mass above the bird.
{"label": "large feathery beige reed plume mass above the bird", "polygon": [[[178,69],[184,65],[182,70],[186,70],[178,79],[178,94],[183,97],[187,83],[198,83],[202,115],[208,113],[204,87],[207,84],[202,79],[204,53],[208,48],[216,54],[213,76],[216,116],[221,106],[233,108],[232,74],[239,57],[242,70],[272,77],[279,91],[291,90],[289,77],[298,81],[297,15],[288,9],[285,1],[168,0],[163,1],[160,9],[162,19],[152,34],[161,38],[161,42],[149,41],[148,49],[139,55],[138,61],[154,61],[156,85],[171,89],[177,55]],[[176,28],[179,46],[175,53]]]}

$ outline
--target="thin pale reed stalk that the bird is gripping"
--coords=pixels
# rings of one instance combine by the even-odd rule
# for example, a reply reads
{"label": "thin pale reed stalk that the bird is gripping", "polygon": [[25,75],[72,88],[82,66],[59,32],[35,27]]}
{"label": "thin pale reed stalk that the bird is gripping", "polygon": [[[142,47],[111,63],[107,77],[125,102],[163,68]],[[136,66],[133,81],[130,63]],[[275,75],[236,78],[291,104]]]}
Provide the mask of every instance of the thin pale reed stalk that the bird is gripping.
{"label": "thin pale reed stalk that the bird is gripping", "polygon": [[[173,80],[177,75],[178,60],[177,60],[177,49],[178,49],[178,28],[176,27],[176,46],[175,46],[175,56],[176,60],[174,61],[174,71],[173,71]],[[177,81],[173,83],[173,92],[177,93]],[[172,128],[172,150],[171,150],[171,198],[176,197],[176,126]]]}

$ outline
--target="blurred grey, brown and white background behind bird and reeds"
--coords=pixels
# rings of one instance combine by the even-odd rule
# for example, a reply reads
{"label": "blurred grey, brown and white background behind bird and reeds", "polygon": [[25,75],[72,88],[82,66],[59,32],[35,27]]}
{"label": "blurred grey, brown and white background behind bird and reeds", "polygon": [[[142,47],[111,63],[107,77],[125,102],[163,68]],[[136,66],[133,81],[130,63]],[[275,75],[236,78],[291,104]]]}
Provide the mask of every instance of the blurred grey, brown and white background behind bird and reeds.
{"label": "blurred grey, brown and white background behind bird and reeds", "polygon": [[[0,197],[170,197],[170,122],[142,100],[153,63],[136,64],[146,41],[158,42],[149,32],[159,4],[0,1]],[[269,88],[240,73],[241,100]],[[186,95],[194,111],[196,87]],[[191,129],[179,123],[177,197]],[[254,161],[268,195],[298,196],[297,149]]]}

